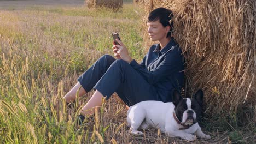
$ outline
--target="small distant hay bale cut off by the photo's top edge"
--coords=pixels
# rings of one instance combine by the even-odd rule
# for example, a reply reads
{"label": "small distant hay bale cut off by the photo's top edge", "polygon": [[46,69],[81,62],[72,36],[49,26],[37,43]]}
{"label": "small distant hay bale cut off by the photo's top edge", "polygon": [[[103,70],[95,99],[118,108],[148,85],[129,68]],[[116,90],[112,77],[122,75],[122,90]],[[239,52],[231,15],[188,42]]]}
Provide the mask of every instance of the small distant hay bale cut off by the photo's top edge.
{"label": "small distant hay bale cut off by the photo's top edge", "polygon": [[123,0],[86,0],[88,8],[110,8],[120,9],[123,8]]}

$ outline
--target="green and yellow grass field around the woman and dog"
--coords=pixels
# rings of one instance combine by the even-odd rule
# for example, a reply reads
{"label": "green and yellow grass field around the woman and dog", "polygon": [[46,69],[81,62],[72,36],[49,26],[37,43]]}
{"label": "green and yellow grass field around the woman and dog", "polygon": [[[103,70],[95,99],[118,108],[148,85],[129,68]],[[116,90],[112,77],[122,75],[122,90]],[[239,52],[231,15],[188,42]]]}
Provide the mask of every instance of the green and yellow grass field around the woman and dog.
{"label": "green and yellow grass field around the woman and dog", "polygon": [[[84,127],[74,122],[92,92],[74,109],[62,100],[96,59],[113,55],[110,33],[119,32],[131,56],[143,58],[142,13],[132,4],[117,12],[74,6],[0,10],[0,143],[188,143],[154,129],[131,135],[125,107],[115,94],[98,109],[96,121]],[[212,139],[192,143],[254,141],[251,128],[223,130],[207,124],[202,122],[203,131]]]}

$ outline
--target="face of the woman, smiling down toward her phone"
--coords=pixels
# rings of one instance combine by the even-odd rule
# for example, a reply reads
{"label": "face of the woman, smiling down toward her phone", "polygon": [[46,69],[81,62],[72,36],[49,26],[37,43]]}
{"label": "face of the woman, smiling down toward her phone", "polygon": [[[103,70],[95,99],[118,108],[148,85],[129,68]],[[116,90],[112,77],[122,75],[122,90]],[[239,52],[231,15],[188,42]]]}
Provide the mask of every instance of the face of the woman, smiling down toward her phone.
{"label": "face of the woman, smiling down toward her phone", "polygon": [[168,31],[170,31],[170,27],[162,26],[159,20],[150,21],[147,23],[147,26],[148,26],[148,34],[149,34],[150,40],[152,41],[156,41],[156,40],[161,41],[162,39],[165,39]]}

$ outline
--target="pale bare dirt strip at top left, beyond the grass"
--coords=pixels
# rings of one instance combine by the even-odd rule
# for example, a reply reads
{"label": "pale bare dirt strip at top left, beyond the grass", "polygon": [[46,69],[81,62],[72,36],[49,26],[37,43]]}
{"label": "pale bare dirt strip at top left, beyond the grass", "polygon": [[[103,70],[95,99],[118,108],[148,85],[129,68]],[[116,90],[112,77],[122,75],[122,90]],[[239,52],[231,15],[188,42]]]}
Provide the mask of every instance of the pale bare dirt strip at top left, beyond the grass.
{"label": "pale bare dirt strip at top left, beyond the grass", "polygon": [[25,8],[33,5],[84,5],[84,0],[0,0],[0,9]]}

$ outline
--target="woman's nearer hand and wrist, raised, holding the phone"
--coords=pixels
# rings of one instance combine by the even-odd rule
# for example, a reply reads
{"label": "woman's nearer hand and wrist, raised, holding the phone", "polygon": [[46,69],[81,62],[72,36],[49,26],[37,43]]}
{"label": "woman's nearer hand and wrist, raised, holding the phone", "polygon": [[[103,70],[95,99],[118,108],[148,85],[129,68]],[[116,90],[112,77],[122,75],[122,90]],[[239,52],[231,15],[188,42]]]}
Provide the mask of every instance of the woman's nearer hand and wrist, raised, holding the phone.
{"label": "woman's nearer hand and wrist, raised, holding the phone", "polygon": [[126,46],[119,39],[116,39],[116,40],[120,44],[120,45],[117,45],[117,47],[118,47],[117,53],[119,54],[121,59],[123,59],[127,63],[130,63],[132,61],[132,58],[130,57],[129,52],[128,52]]}

